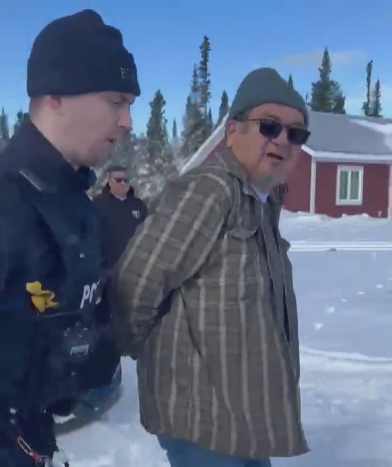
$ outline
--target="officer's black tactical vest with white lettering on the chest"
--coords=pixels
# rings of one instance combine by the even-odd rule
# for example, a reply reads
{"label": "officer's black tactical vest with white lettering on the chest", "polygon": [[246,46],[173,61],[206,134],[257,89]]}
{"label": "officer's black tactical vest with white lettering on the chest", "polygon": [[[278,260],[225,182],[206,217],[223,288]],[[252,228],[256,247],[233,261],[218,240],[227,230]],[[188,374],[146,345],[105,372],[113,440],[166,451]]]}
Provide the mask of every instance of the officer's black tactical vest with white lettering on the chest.
{"label": "officer's black tactical vest with white lettering on the chest", "polygon": [[[89,368],[93,361],[93,370],[100,370],[96,365],[102,342],[102,328],[96,323],[103,285],[99,229],[85,193],[46,190],[31,171],[21,170],[17,177],[29,205],[23,213],[26,237],[20,247],[19,275],[10,274],[2,293],[0,321],[9,329],[9,364],[25,363],[12,383],[24,394],[24,404],[46,408],[106,384],[114,371],[108,367],[91,375]],[[54,306],[43,312],[35,309],[34,294],[26,290],[26,284],[33,282],[55,294]],[[20,355],[11,340],[21,342]]]}

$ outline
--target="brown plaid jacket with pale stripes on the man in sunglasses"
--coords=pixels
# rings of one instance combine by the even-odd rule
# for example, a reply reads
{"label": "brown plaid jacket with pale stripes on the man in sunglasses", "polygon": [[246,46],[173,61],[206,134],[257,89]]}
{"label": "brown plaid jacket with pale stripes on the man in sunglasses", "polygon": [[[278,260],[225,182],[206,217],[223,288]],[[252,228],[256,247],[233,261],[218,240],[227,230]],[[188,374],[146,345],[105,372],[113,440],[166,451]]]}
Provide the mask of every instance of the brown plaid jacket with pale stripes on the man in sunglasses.
{"label": "brown plaid jacket with pale stripes on the man in sunglasses", "polygon": [[[150,433],[246,458],[308,451],[289,244],[270,206],[275,257],[260,203],[225,152],[170,182],[123,254],[113,283],[116,329],[123,353],[138,359]],[[273,313],[276,261],[289,340]]]}

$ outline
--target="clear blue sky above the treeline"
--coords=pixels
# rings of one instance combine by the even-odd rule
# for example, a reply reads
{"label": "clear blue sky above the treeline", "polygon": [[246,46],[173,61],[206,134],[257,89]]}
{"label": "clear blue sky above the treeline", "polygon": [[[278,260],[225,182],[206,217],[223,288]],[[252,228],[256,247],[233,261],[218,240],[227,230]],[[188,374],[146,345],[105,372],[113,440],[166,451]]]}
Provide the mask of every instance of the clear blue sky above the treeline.
{"label": "clear blue sky above the treeline", "polygon": [[27,109],[26,62],[37,33],[56,17],[93,8],[119,28],[138,66],[142,95],[132,108],[137,133],[145,131],[149,102],[161,89],[166,117],[180,124],[193,64],[203,35],[211,40],[211,106],[216,118],[225,89],[231,100],[241,79],[255,67],[292,73],[305,96],[329,48],[332,77],[347,96],[348,113],[359,113],[366,63],[380,78],[383,113],[392,117],[392,2],[377,0],[19,0],[0,7],[0,106],[13,122]]}

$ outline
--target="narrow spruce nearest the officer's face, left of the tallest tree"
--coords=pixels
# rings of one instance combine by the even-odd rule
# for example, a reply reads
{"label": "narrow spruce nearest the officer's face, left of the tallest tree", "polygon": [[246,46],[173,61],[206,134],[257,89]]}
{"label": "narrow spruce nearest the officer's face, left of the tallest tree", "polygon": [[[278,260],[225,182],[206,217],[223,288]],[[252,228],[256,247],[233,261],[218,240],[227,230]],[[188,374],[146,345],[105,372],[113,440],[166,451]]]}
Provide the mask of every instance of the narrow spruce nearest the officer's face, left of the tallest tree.
{"label": "narrow spruce nearest the officer's face, left of the tallest tree", "polygon": [[151,161],[164,157],[167,148],[166,101],[158,89],[150,102],[151,114],[147,123],[147,150]]}

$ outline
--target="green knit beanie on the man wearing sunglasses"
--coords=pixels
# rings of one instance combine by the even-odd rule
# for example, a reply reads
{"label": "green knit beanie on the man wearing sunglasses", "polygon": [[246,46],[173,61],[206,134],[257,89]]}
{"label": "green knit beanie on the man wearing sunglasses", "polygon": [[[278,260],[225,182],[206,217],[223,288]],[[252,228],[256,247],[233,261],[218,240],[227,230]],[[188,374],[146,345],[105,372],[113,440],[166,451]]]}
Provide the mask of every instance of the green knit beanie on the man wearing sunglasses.
{"label": "green knit beanie on the man wearing sunglasses", "polygon": [[242,80],[229,110],[228,120],[261,104],[281,104],[299,110],[308,126],[308,110],[301,95],[273,68],[258,68]]}

